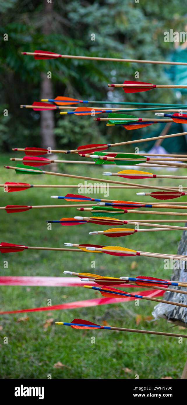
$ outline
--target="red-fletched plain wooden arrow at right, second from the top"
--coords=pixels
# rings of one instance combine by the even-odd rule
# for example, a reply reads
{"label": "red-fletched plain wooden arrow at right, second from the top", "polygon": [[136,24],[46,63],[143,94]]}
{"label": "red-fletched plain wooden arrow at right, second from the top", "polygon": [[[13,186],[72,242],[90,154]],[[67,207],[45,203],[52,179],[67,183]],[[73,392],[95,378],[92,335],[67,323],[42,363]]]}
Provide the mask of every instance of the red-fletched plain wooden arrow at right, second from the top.
{"label": "red-fletched plain wooden arrow at right, second from the top", "polygon": [[147,92],[152,89],[187,89],[184,85],[152,84],[145,81],[125,80],[123,84],[108,84],[108,87],[123,87],[125,93]]}

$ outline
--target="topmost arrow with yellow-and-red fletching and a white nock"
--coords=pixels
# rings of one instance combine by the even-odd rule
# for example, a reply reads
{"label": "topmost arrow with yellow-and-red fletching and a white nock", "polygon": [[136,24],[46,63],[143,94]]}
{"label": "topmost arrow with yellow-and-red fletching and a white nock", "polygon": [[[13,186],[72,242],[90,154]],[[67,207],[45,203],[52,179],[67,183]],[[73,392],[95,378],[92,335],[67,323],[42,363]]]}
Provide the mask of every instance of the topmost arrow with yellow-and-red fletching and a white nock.
{"label": "topmost arrow with yellow-and-red fletching and a white nock", "polygon": [[155,175],[153,173],[138,171],[138,170],[122,170],[117,173],[104,172],[104,176],[119,176],[125,179],[187,179],[187,176],[173,176],[173,175]]}

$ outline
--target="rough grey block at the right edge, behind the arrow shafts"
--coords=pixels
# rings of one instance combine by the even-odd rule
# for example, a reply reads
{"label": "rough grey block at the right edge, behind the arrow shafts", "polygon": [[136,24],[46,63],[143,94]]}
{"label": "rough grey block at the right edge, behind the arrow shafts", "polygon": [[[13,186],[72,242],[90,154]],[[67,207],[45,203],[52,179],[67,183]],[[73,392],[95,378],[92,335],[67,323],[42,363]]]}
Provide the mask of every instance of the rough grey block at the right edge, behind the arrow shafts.
{"label": "rough grey block at the right edge, behind the arrow shafts", "polygon": [[[187,224],[185,225],[187,226]],[[187,255],[187,231],[183,231],[181,240],[178,245],[177,254]],[[186,262],[181,261],[179,269],[173,269],[172,272],[172,281],[185,281],[187,282],[187,269]],[[175,264],[173,266],[175,268]],[[177,290],[187,290],[185,287],[174,287]],[[165,292],[164,299],[168,301],[175,301],[178,303],[187,304],[187,295],[179,294],[176,292]],[[170,304],[158,304],[154,308],[153,316],[155,318],[162,317],[168,320],[171,320],[177,324],[187,324],[187,308],[184,307],[175,307]],[[185,326],[185,325],[184,325]]]}

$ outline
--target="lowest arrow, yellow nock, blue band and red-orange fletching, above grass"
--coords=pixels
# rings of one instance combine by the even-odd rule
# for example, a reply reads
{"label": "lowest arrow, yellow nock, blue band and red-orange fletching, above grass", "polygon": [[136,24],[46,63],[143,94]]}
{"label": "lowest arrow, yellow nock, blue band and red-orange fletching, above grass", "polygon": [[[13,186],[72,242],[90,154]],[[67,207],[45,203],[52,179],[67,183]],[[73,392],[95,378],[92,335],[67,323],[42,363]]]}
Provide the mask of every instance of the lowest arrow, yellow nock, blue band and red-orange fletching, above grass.
{"label": "lowest arrow, yellow nock, blue band and red-orange fletching, above grass", "polygon": [[187,337],[187,335],[179,335],[178,333],[166,333],[166,332],[155,332],[153,330],[141,330],[141,329],[127,329],[127,328],[116,328],[113,326],[102,326],[94,324],[93,322],[86,321],[85,319],[75,318],[72,322],[55,322],[56,325],[71,326],[73,329],[107,329],[107,330],[120,330],[123,332],[132,333],[146,333],[149,335],[161,335],[161,336],[172,336],[172,337]]}

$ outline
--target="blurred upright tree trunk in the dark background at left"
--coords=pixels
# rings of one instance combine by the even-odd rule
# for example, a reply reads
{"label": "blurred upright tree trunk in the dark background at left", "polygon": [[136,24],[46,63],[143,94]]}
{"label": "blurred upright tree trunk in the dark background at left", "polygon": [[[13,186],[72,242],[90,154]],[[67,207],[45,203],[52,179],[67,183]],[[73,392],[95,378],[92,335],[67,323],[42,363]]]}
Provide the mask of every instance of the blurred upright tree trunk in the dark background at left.
{"label": "blurred upright tree trunk in the dark background at left", "polygon": [[[44,35],[49,35],[52,32],[52,22],[53,22],[53,2],[48,3],[44,0],[44,12],[43,12],[43,27],[42,33]],[[47,78],[47,72],[41,73],[41,98],[53,98],[53,83],[52,79]],[[42,147],[51,147],[55,149],[55,119],[54,111],[41,111],[40,120],[40,132],[42,138]]]}

